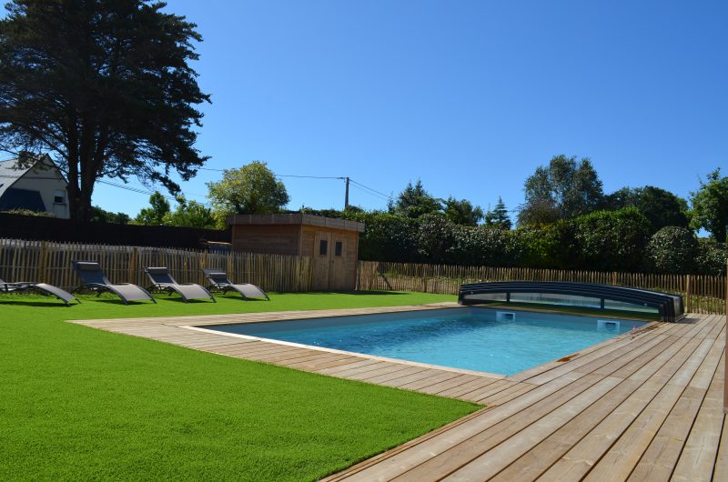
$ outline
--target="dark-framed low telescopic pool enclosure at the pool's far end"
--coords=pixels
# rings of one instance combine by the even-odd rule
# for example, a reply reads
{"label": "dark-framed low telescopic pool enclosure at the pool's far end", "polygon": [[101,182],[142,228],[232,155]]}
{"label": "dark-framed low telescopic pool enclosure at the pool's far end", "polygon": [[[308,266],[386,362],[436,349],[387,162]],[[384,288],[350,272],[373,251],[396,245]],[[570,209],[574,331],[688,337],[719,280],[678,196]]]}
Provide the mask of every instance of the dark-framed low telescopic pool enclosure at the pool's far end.
{"label": "dark-framed low telescopic pool enclosure at the pool's far end", "polygon": [[662,321],[684,316],[682,296],[626,286],[550,281],[501,281],[460,285],[458,303],[534,303],[624,312],[657,312]]}

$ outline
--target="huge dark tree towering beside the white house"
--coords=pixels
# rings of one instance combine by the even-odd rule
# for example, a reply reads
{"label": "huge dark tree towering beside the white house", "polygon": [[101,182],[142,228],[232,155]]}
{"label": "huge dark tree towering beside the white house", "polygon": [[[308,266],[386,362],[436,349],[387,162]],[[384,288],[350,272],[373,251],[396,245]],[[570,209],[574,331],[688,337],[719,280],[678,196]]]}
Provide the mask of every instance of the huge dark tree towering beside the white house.
{"label": "huge dark tree towering beside the white house", "polygon": [[0,20],[0,149],[55,154],[72,218],[96,181],[136,176],[172,193],[207,157],[195,148],[209,101],[188,65],[196,25],[147,0],[15,0]]}

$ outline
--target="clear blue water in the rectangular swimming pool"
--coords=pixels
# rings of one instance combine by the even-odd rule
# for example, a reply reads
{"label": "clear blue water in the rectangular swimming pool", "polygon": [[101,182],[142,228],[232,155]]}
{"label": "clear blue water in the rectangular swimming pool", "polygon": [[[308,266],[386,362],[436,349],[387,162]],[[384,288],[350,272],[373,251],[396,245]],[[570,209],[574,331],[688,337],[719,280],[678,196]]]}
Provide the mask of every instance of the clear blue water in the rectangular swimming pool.
{"label": "clear blue water in the rectangular swimming pool", "polygon": [[[632,320],[448,308],[384,315],[206,326],[444,367],[513,375],[644,325]],[[500,320],[498,318],[501,318]]]}

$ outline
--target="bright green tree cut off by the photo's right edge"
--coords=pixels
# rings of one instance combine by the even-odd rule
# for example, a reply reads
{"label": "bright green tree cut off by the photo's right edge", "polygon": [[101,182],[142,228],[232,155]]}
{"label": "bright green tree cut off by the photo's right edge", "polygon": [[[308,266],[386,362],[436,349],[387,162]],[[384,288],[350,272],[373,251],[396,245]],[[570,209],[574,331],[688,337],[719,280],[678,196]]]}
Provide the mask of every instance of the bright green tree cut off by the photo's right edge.
{"label": "bright green tree cut off by the photo's right edge", "polygon": [[692,224],[694,229],[704,228],[713,238],[725,243],[728,230],[728,176],[721,176],[715,169],[708,175],[707,182],[700,182],[700,189],[691,193],[693,205]]}

